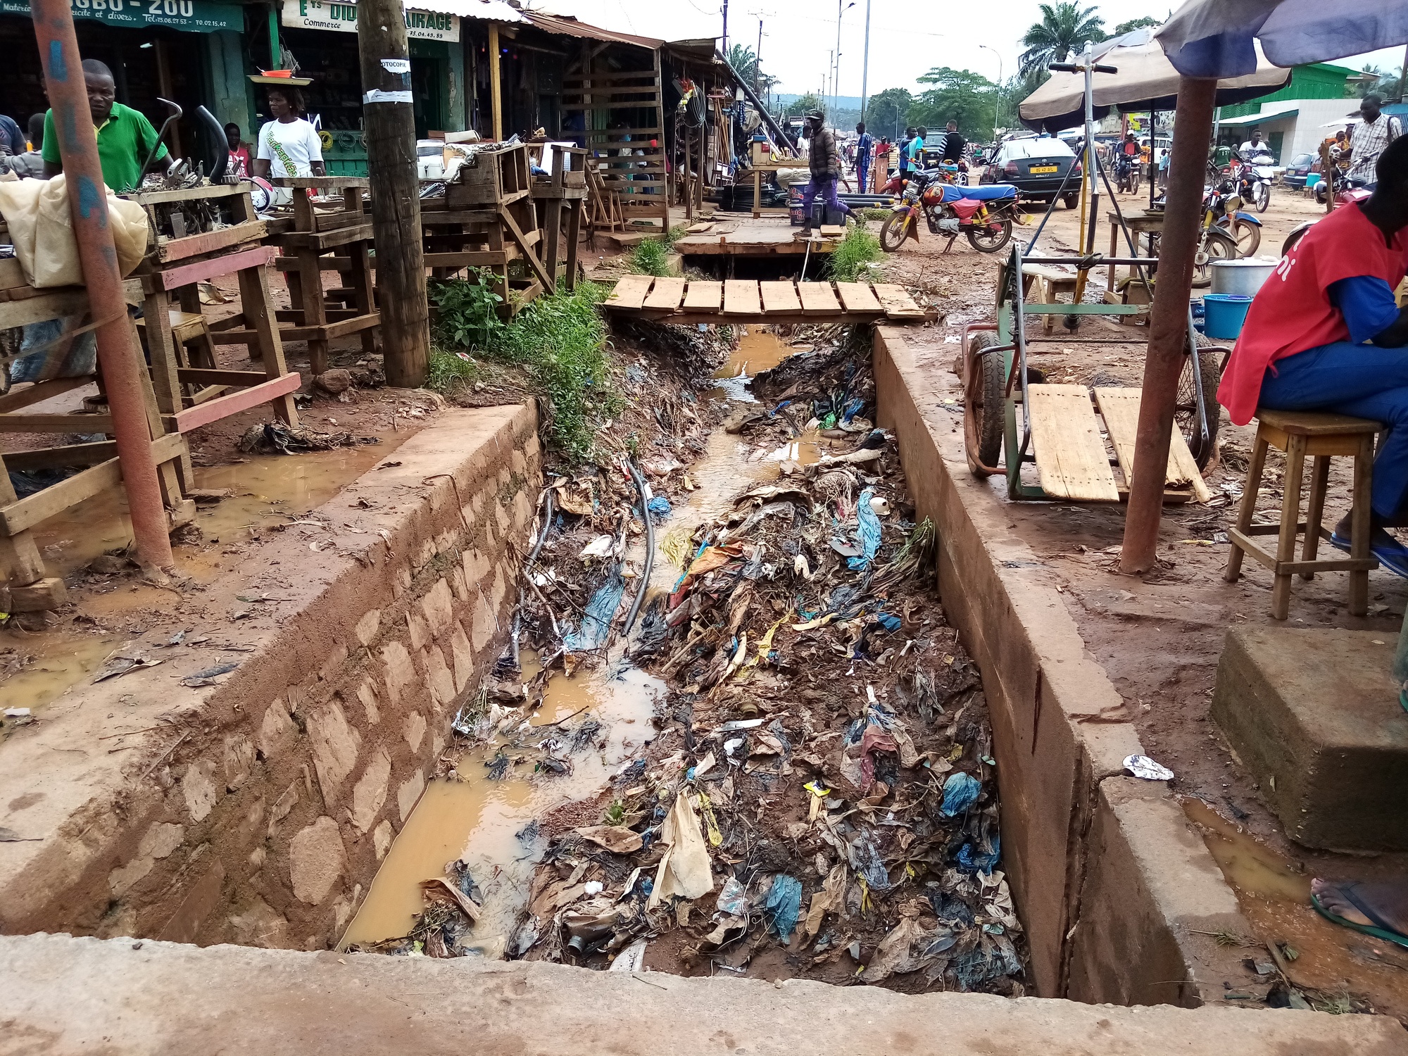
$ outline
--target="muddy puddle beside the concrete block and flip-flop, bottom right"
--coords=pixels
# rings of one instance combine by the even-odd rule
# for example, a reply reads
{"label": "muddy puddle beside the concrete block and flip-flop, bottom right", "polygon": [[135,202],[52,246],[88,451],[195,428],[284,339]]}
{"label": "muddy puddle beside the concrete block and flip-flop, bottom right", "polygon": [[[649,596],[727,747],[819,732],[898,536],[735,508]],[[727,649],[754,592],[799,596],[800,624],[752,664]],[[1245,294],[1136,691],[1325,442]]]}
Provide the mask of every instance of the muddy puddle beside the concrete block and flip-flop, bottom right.
{"label": "muddy puddle beside the concrete block and flip-flop, bottom right", "polygon": [[[1408,1012],[1408,950],[1326,921],[1311,907],[1311,877],[1205,803],[1183,804],[1257,938],[1288,943],[1293,986],[1326,994],[1370,994],[1381,1012]],[[1264,960],[1264,952],[1247,956]]]}

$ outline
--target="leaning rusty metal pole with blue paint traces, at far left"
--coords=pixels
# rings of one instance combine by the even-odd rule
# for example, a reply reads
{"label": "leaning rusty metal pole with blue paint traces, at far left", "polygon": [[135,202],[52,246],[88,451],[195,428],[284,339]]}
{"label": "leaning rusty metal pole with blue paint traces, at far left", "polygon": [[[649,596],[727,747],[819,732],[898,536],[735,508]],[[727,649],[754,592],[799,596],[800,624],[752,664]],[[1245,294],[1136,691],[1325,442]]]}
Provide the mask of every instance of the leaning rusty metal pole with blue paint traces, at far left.
{"label": "leaning rusty metal pole with blue paint traces, at far left", "polygon": [[97,328],[97,358],[113,415],[137,558],[146,567],[172,569],[175,559],[142,391],[141,372],[146,367],[137,346],[137,329],[127,317],[122,276],[117,269],[117,249],[107,222],[107,189],[73,34],[73,13],[69,0],[34,0],[31,13],[44,61],[44,83],[54,108],[54,130],[59,137],[59,159],[68,183],[89,308],[94,320],[106,320]]}

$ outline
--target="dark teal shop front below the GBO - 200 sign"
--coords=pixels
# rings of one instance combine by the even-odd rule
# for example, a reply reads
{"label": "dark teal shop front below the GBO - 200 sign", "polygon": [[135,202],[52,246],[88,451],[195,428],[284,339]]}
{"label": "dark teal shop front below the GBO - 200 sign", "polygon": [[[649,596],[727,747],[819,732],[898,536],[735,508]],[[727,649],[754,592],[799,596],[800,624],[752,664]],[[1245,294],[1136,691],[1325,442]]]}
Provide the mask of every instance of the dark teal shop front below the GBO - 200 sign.
{"label": "dark teal shop front below the GBO - 200 sign", "polygon": [[[211,159],[217,144],[196,120],[207,107],[221,124],[249,125],[245,80],[245,7],[218,0],[72,0],[79,52],[113,70],[117,101],[146,114],[158,128],[169,99],[184,117],[168,132],[176,156]],[[0,0],[0,113],[24,128],[48,110],[44,69],[30,4]]]}

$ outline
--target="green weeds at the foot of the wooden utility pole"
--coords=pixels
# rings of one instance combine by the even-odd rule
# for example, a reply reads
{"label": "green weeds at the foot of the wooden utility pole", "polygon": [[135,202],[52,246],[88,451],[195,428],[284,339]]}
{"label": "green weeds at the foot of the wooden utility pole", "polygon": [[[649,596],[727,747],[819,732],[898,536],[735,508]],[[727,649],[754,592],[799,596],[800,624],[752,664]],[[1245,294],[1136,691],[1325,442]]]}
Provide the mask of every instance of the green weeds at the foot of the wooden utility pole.
{"label": "green weeds at the foot of the wooden utility pole", "polygon": [[448,391],[477,380],[479,360],[520,366],[548,401],[549,439],[574,460],[590,458],[593,420],[617,407],[607,375],[607,328],[597,311],[604,296],[596,283],[577,283],[576,290],[538,297],[510,322],[497,317],[490,322],[484,307],[498,298],[486,287],[463,279],[432,284],[439,320],[429,387]]}

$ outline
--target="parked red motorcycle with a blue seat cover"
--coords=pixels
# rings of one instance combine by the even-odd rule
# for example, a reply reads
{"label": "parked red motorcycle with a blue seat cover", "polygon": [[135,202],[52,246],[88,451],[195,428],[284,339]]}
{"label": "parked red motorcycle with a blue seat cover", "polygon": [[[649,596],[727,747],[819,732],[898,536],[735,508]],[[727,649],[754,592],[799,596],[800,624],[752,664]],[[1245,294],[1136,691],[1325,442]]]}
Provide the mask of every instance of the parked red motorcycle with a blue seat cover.
{"label": "parked red motorcycle with a blue seat cover", "polygon": [[960,234],[980,253],[995,253],[1012,241],[1017,187],[1010,183],[969,187],[946,183],[932,170],[914,173],[880,228],[880,248],[894,253],[910,238],[918,242],[921,215],[932,234],[948,235],[945,253]]}

